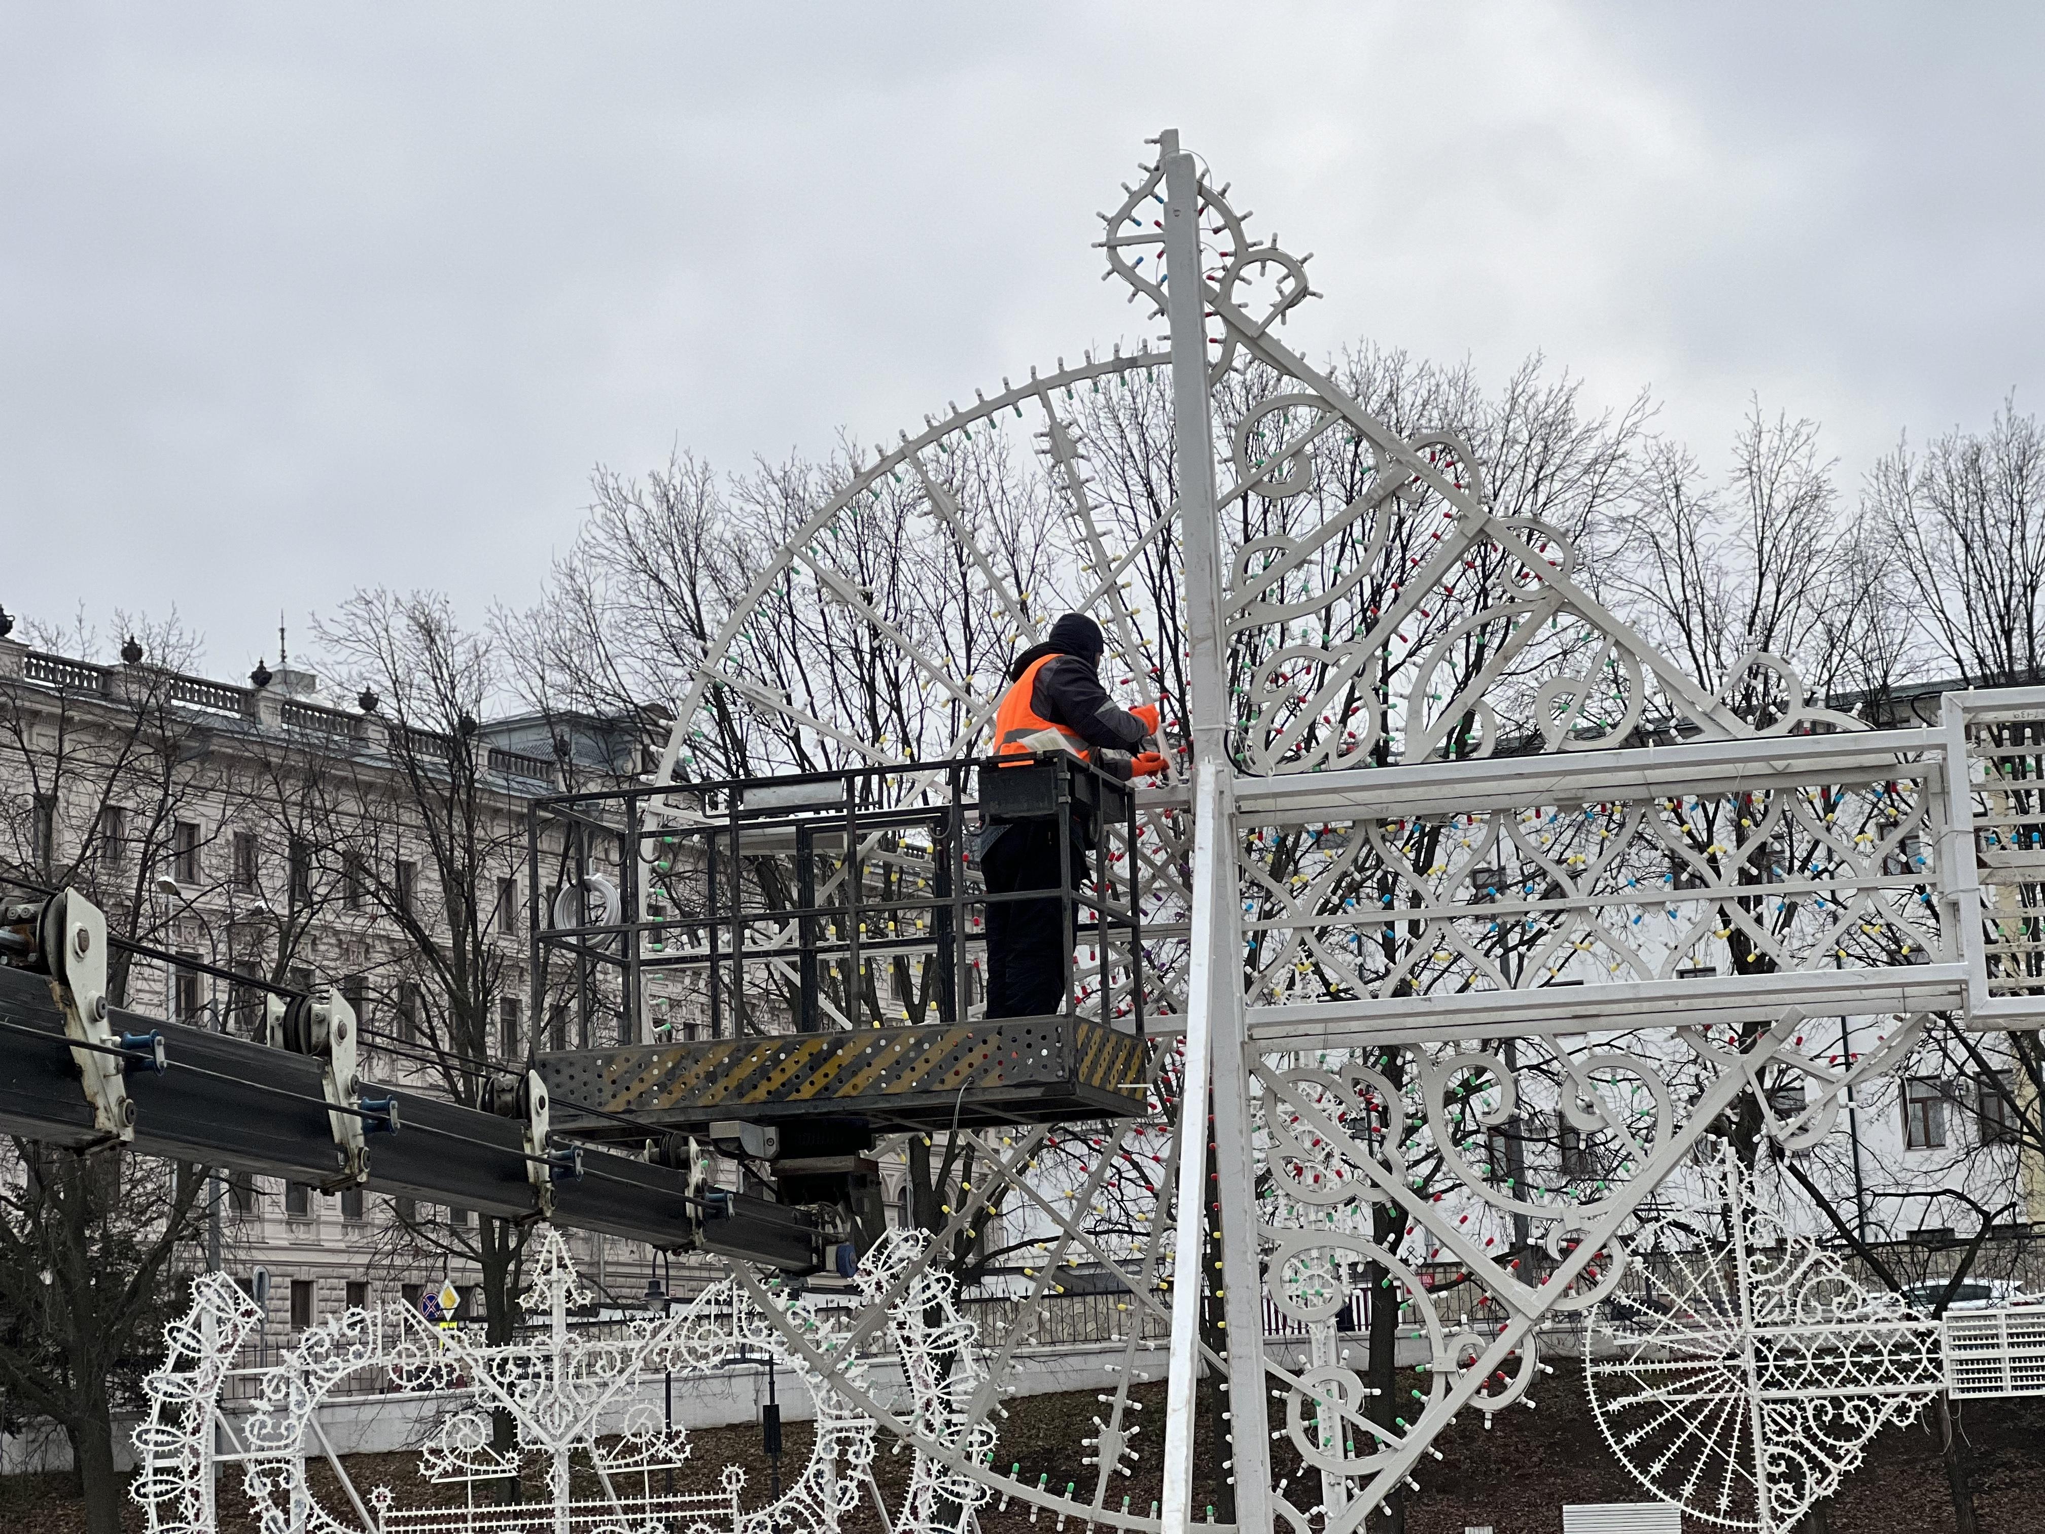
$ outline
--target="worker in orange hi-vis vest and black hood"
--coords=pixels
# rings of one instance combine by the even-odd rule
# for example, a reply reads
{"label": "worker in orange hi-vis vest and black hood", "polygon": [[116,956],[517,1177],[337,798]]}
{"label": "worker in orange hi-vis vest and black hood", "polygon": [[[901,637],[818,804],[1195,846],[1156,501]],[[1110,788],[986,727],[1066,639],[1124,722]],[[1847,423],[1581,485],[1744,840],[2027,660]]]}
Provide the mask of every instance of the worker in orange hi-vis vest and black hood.
{"label": "worker in orange hi-vis vest and black hood", "polygon": [[[1008,693],[994,714],[994,755],[1029,757],[1072,751],[1100,771],[1129,779],[1164,771],[1153,749],[1157,706],[1117,708],[1100,685],[1100,624],[1070,612],[1043,644],[1008,667]],[[1094,826],[1072,816],[1072,873],[1078,879]],[[980,832],[980,871],[988,894],[1057,890],[1057,820],[1010,820]],[[1065,1004],[1065,957],[1072,908],[1045,900],[988,902],[988,1017],[1047,1017]]]}

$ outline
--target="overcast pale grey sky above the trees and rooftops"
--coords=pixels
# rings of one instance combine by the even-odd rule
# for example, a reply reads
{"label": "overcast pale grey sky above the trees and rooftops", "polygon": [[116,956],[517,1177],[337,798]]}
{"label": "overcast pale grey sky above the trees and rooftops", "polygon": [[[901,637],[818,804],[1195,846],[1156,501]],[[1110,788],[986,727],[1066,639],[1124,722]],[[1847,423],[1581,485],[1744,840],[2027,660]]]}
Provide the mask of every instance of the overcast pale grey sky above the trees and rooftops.
{"label": "overcast pale grey sky above the trees and rooftops", "polygon": [[1182,129],[1288,327],[1759,393],[1857,485],[2045,395],[2045,8],[0,0],[0,605],[276,659],[526,603],[593,464],[873,442],[1135,335],[1096,211]]}

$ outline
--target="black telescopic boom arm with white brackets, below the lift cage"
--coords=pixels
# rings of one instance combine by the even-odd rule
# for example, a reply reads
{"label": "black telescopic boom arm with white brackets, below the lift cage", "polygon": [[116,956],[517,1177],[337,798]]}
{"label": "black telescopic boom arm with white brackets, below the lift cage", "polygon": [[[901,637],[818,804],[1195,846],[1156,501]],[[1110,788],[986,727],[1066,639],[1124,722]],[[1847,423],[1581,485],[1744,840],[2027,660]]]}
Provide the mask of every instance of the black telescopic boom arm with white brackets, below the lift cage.
{"label": "black telescopic boom arm with white brackets, below the lift cage", "polygon": [[237,1039],[110,1006],[106,949],[104,916],[76,890],[0,904],[0,1133],[82,1152],[125,1143],[787,1272],[843,1266],[849,1225],[828,1207],[710,1188],[687,1154],[556,1139],[536,1072],[493,1082],[474,1109],[366,1088],[342,996],[272,998],[264,1037]]}

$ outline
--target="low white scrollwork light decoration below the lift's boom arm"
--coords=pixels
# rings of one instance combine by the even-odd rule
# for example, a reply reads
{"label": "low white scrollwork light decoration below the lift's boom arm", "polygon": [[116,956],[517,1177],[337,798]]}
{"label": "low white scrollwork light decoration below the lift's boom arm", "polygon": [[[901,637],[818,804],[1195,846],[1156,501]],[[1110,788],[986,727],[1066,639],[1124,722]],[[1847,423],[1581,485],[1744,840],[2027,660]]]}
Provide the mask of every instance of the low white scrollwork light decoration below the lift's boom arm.
{"label": "low white scrollwork light decoration below the lift's boom arm", "polygon": [[[959,1467],[984,1460],[994,1438],[984,1413],[969,1411],[984,1379],[971,1321],[953,1303],[949,1280],[916,1258],[924,1237],[890,1233],[867,1254],[857,1295],[890,1317],[885,1342],[902,1368],[908,1424],[945,1452],[945,1462],[912,1467],[904,1503],[892,1514],[898,1534],[957,1528],[957,1509],[975,1505],[984,1487]],[[221,1387],[237,1348],[256,1325],[256,1307],[221,1274],[204,1276],[192,1311],[170,1327],[170,1358],[149,1379],[151,1413],[137,1428],[143,1460],[133,1497],[155,1534],[204,1534],[217,1526],[213,1475],[239,1467],[243,1489],[266,1534],[474,1534],[476,1530],[834,1530],[873,1489],[873,1438],[894,1413],[873,1395],[871,1358],[851,1340],[845,1309],[779,1293],[738,1274],[706,1287],[671,1315],[642,1317],[589,1338],[569,1323],[585,1305],[566,1246],[546,1231],[534,1256],[526,1311],[534,1334],[493,1346],[472,1332],[429,1325],[411,1307],[350,1309],[309,1329],[280,1362],[243,1370],[260,1387],[258,1411],[243,1442],[221,1415]],[[689,1438],[667,1430],[646,1401],[663,1370],[701,1377],[734,1362],[773,1360],[814,1407],[812,1452],[779,1499],[744,1509],[744,1473],[724,1467],[718,1491],[656,1489],[689,1458]],[[382,1374],[399,1389],[440,1391],[456,1405],[436,1422],[421,1448],[427,1481],[466,1487],[458,1507],[401,1507],[387,1487],[358,1495],[319,1426],[335,1385],[350,1374]],[[513,1424],[507,1448],[493,1444],[493,1411]],[[327,1452],[350,1509],[317,1501],[309,1456]],[[577,1495],[575,1467],[593,1475],[597,1495]],[[540,1499],[505,1505],[495,1495],[505,1477],[538,1471]],[[350,1518],[352,1514],[352,1518]],[[945,1522],[945,1520],[951,1522]]]}

